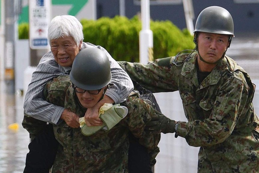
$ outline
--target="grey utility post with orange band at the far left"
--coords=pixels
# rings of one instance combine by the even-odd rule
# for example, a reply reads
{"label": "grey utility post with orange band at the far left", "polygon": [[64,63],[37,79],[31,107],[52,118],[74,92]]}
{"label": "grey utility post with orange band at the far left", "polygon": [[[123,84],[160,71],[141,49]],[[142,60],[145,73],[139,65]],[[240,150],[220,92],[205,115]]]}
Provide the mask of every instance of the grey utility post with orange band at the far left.
{"label": "grey utility post with orange band at the far left", "polygon": [[14,94],[15,0],[5,1],[5,83],[6,92]]}

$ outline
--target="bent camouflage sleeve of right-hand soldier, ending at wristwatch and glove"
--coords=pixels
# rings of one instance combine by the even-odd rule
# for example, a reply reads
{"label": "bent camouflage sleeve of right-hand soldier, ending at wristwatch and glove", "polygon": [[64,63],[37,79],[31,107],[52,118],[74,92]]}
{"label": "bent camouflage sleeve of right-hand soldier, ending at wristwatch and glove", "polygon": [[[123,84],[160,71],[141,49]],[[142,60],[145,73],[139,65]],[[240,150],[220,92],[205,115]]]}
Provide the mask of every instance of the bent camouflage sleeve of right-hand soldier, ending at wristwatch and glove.
{"label": "bent camouflage sleeve of right-hand soldier, ending at wristwatch and glove", "polygon": [[[228,80],[211,103],[209,118],[192,122],[178,122],[177,133],[194,147],[210,146],[226,140],[243,114],[248,98],[248,88],[239,79]],[[203,103],[200,102],[200,106]],[[206,102],[209,107],[209,102]],[[244,122],[245,127],[247,122]]]}

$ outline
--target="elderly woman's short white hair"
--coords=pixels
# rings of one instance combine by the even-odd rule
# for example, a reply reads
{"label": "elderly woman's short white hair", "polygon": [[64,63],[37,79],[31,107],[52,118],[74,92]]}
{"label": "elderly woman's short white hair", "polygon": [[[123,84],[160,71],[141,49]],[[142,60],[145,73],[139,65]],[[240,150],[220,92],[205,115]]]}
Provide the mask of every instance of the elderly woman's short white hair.
{"label": "elderly woman's short white hair", "polygon": [[72,36],[79,46],[84,39],[83,26],[75,16],[61,15],[54,17],[48,27],[49,43],[52,39]]}

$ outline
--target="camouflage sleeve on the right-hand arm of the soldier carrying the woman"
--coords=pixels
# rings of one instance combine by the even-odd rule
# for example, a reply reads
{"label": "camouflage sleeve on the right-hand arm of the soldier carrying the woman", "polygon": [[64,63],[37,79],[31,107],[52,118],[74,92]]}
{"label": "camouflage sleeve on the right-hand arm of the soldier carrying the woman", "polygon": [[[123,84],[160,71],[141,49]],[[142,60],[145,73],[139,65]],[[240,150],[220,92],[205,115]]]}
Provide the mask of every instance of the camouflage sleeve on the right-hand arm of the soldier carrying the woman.
{"label": "camouflage sleeve on the right-hand arm of the soldier carrying the woman", "polygon": [[156,114],[156,111],[136,96],[128,97],[121,105],[126,106],[129,110],[121,123],[127,126],[135,137],[139,138],[140,144],[148,148],[150,161],[154,160],[159,153],[157,145],[160,141],[160,134],[146,133],[144,128],[145,123],[151,120],[151,115]]}

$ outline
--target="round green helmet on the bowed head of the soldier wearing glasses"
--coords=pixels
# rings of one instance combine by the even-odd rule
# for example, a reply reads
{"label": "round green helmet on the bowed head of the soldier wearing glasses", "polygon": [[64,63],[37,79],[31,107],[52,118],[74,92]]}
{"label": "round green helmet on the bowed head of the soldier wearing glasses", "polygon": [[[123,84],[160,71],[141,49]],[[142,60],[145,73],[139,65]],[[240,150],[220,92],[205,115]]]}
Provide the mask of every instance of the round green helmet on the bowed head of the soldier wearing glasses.
{"label": "round green helmet on the bowed head of the soldier wearing glasses", "polygon": [[101,89],[111,82],[110,61],[104,51],[84,48],[76,55],[69,77],[79,88]]}

